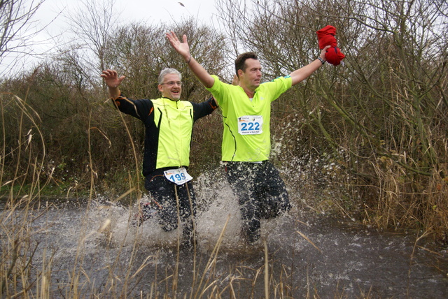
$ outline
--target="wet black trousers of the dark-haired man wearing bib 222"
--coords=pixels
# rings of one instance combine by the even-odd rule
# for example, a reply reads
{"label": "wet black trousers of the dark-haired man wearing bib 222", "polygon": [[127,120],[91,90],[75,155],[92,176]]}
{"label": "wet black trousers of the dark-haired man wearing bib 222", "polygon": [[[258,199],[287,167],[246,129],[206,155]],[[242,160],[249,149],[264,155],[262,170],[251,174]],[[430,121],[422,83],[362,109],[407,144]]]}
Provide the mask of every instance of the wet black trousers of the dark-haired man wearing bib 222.
{"label": "wet black trousers of the dark-haired man wearing bib 222", "polygon": [[239,201],[244,233],[249,242],[255,242],[260,238],[260,219],[290,210],[285,183],[269,161],[225,164],[228,182]]}

